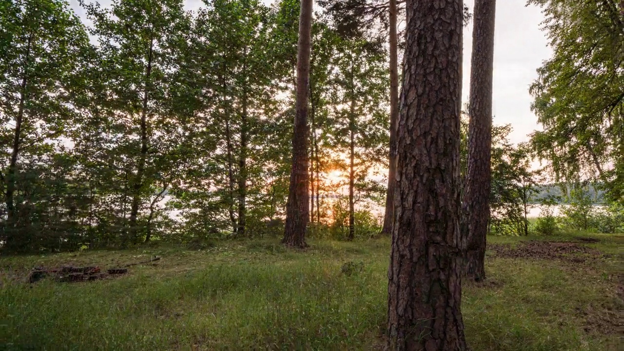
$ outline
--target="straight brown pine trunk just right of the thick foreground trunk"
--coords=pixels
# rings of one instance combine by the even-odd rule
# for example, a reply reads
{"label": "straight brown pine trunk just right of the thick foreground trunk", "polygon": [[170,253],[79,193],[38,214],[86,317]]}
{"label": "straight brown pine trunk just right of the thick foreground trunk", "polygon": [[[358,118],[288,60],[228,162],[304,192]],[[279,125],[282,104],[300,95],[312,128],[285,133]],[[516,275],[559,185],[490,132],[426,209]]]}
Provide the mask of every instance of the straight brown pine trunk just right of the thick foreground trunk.
{"label": "straight brown pine trunk just right of the thick foreground trunk", "polygon": [[495,9],[496,0],[475,0],[462,246],[466,250],[464,274],[476,281],[485,279],[485,242],[490,218]]}

